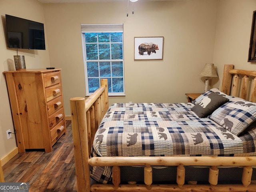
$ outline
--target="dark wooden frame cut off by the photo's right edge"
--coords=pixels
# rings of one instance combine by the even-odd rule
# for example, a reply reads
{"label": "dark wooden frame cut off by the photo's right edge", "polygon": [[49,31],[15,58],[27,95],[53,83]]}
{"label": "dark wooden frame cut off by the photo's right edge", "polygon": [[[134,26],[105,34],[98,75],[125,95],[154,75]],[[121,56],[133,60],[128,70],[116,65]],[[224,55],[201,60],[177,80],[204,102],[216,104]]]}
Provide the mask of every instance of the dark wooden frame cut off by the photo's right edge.
{"label": "dark wooden frame cut off by the photo's right edge", "polygon": [[248,62],[256,62],[256,11],[252,15],[252,30],[250,37],[249,55]]}

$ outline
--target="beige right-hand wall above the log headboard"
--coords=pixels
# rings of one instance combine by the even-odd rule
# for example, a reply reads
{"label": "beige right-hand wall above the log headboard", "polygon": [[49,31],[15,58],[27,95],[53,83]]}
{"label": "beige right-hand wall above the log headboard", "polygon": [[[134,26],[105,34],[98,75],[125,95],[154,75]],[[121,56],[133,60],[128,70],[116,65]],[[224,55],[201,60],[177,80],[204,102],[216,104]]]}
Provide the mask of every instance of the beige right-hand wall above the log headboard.
{"label": "beige right-hand wall above the log headboard", "polygon": [[220,80],[224,64],[256,70],[256,63],[247,62],[254,10],[256,0],[219,1],[213,62],[218,67]]}

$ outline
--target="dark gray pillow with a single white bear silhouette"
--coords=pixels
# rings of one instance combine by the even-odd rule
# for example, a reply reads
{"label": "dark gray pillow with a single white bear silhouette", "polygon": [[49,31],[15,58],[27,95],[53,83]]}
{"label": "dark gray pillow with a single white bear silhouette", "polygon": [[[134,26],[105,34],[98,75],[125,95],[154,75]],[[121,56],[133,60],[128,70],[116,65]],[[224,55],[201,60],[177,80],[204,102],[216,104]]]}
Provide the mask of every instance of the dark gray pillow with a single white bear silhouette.
{"label": "dark gray pillow with a single white bear silhouette", "polygon": [[192,111],[200,118],[207,117],[212,114],[217,108],[228,102],[228,98],[223,95],[212,92],[205,96],[198,104],[191,108]]}

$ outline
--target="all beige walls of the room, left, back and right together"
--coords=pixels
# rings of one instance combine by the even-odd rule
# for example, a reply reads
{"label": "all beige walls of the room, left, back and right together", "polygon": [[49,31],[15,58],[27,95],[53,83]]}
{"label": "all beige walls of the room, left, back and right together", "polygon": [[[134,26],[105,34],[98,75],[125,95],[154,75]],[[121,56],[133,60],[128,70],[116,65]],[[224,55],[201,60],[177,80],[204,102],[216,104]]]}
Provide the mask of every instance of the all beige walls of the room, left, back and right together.
{"label": "all beige walls of the room, left, back and right together", "polygon": [[[131,4],[130,4],[131,5]],[[11,14],[45,23],[46,51],[19,50],[27,68],[62,68],[65,111],[69,99],[85,96],[84,62],[80,24],[124,23],[124,68],[126,96],[114,102],[186,102],[186,92],[203,92],[198,76],[205,63],[214,62],[220,79],[224,64],[256,70],[247,62],[252,11],[256,0],[184,0],[136,2],[134,15],[126,2],[40,4],[37,0],[0,0],[1,22]],[[5,39],[0,25],[0,39]],[[134,61],[134,37],[164,36],[164,59]],[[1,71],[15,50],[0,44]],[[1,73],[2,74],[2,73]],[[219,87],[220,80],[213,81]],[[0,158],[16,147],[6,139],[13,130],[4,76],[0,79]],[[166,91],[163,92],[163,90]]]}

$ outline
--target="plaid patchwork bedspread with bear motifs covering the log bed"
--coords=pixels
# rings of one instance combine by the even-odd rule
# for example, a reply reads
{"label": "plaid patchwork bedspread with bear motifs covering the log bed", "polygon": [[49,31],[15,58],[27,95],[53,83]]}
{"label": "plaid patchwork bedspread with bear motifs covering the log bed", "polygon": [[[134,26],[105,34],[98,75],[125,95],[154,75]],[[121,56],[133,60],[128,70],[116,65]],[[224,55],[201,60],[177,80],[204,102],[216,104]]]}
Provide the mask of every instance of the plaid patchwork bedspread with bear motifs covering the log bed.
{"label": "plaid patchwork bedspread with bear motifs covering the log bed", "polygon": [[[96,132],[91,156],[255,156],[256,129],[238,137],[209,118],[198,118],[192,103],[116,103]],[[111,167],[90,167],[101,183]]]}

